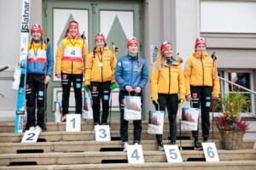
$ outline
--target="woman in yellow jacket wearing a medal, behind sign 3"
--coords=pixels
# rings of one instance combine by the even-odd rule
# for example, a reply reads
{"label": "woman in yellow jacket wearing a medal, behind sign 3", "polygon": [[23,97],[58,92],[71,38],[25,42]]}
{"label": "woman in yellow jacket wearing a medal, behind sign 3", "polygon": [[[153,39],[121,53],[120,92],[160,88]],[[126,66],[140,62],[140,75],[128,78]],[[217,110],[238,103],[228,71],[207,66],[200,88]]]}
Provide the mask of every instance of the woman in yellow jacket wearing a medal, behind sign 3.
{"label": "woman in yellow jacket wearing a medal, behind sign 3", "polygon": [[[93,120],[95,125],[107,125],[109,112],[110,90],[116,88],[114,70],[116,58],[113,51],[106,47],[106,39],[102,33],[98,33],[95,38],[93,52],[86,59],[85,90],[91,91]],[[102,99],[102,122],[101,116]]]}

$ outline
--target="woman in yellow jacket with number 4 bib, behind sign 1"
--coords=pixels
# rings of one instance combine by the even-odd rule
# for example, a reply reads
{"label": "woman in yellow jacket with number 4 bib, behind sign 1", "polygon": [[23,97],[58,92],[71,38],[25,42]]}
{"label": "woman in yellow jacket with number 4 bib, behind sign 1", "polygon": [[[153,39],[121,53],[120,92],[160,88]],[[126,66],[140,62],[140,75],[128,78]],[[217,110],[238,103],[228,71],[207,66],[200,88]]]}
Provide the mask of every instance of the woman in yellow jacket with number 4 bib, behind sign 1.
{"label": "woman in yellow jacket with number 4 bib, behind sign 1", "polygon": [[61,78],[62,122],[67,119],[71,82],[75,93],[76,114],[82,114],[82,84],[85,56],[88,48],[79,36],[79,23],[75,20],[68,25],[66,37],[61,40],[56,54],[55,76]]}

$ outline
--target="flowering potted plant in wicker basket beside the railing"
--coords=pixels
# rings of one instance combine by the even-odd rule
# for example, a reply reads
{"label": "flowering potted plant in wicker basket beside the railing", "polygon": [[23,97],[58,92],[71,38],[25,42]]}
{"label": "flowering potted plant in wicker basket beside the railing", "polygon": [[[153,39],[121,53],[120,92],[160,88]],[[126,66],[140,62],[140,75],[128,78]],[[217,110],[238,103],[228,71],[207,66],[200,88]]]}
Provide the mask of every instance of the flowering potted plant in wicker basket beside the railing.
{"label": "flowering potted plant in wicker basket beside the railing", "polygon": [[241,120],[242,110],[247,110],[250,100],[245,94],[235,92],[225,94],[217,100],[216,107],[222,108],[220,116],[215,117],[214,125],[221,133],[224,149],[239,150],[249,123]]}

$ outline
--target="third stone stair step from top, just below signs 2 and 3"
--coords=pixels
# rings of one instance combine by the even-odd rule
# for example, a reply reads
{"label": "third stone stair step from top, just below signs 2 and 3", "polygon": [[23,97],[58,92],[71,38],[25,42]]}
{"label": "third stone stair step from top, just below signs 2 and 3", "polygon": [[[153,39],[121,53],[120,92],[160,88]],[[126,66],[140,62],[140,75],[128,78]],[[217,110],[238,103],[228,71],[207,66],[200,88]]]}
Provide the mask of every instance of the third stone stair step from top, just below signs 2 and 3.
{"label": "third stone stair step from top, just below signs 2 and 3", "polygon": [[[212,142],[212,141],[211,141]],[[223,150],[222,140],[213,141],[218,150]],[[168,140],[163,141],[169,144]],[[132,141],[130,141],[132,144]],[[156,150],[157,142],[155,140],[143,140],[143,150]],[[243,141],[241,149],[251,149],[254,141]],[[180,146],[180,141],[177,141]],[[194,146],[193,140],[182,140],[183,150],[191,149]],[[123,150],[123,144],[120,141],[96,142],[96,141],[69,141],[69,142],[40,142],[40,143],[0,143],[0,154],[10,153],[49,153],[49,152],[84,152],[84,151],[114,151]]]}

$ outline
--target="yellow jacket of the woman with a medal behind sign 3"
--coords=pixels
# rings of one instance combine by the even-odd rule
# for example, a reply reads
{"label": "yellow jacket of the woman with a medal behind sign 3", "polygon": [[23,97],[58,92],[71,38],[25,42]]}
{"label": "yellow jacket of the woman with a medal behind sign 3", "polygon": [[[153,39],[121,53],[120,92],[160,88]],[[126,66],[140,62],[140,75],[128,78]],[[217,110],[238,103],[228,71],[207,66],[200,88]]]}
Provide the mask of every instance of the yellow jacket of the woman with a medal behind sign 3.
{"label": "yellow jacket of the woman with a medal behind sign 3", "polygon": [[86,58],[84,84],[87,85],[90,82],[115,82],[115,65],[115,55],[108,47],[96,48]]}

